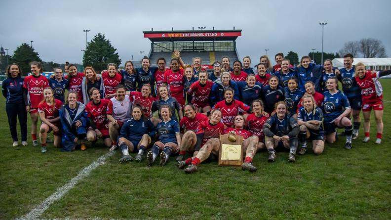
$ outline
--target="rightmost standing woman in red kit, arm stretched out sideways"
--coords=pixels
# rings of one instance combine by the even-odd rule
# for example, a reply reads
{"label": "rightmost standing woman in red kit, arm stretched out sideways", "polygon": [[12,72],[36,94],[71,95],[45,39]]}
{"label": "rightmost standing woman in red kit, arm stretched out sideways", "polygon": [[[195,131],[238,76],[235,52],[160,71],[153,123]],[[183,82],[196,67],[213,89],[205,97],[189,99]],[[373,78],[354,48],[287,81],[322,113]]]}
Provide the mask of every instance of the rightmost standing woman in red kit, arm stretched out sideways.
{"label": "rightmost standing woman in red kit, arm stretched out sideways", "polygon": [[365,137],[363,142],[369,141],[369,128],[371,121],[371,110],[375,113],[376,119],[376,141],[380,144],[382,142],[383,134],[383,88],[379,82],[379,78],[391,74],[391,70],[375,72],[365,71],[363,63],[355,65],[354,78],[358,87],[361,88],[362,99],[362,114],[364,115],[364,132]]}

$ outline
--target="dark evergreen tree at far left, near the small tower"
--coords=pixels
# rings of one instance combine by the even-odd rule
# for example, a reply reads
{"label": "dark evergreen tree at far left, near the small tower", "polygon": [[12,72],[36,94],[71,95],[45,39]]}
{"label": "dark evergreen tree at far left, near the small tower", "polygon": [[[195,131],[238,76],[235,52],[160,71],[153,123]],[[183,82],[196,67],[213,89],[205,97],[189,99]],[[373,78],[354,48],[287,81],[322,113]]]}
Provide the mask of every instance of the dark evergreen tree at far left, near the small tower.
{"label": "dark evergreen tree at far left, near the small tower", "polygon": [[9,63],[16,63],[22,69],[24,75],[30,73],[30,62],[38,61],[42,62],[39,58],[38,52],[34,51],[34,47],[29,44],[22,44],[16,48],[14,54],[10,57]]}

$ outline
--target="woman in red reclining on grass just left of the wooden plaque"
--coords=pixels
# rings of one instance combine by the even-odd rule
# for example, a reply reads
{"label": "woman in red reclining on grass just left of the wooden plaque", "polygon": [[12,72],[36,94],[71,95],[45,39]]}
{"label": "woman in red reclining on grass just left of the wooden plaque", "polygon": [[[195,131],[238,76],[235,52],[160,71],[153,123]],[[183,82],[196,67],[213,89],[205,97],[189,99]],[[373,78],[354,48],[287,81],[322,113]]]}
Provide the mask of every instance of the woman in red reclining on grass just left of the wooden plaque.
{"label": "woman in red reclining on grass just left of the wooden plaque", "polygon": [[[183,169],[186,165],[189,165],[188,169],[191,169],[190,172],[186,171],[186,173],[193,173],[195,172],[193,169],[190,168],[193,166],[197,166],[202,161],[206,160],[210,153],[213,153],[214,155],[218,154],[218,151],[220,149],[220,134],[224,133],[224,124],[220,122],[221,120],[221,111],[219,109],[214,109],[211,112],[210,119],[208,121],[202,122],[198,130],[196,132],[196,144],[194,147],[195,151],[199,151],[195,156],[190,157],[186,159],[185,161],[178,161],[178,168]],[[193,137],[194,138],[194,137]],[[189,143],[188,143],[189,144]],[[201,148],[207,148],[200,152]]]}

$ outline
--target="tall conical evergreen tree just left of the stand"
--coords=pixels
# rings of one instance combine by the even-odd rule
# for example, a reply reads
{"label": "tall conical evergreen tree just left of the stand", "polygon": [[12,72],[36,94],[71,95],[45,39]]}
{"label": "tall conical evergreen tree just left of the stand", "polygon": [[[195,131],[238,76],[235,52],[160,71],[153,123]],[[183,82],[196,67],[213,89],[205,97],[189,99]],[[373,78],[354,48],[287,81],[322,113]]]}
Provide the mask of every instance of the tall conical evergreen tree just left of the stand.
{"label": "tall conical evergreen tree just left of the stand", "polygon": [[115,63],[119,66],[121,59],[119,59],[116,50],[110,41],[105,39],[105,35],[98,33],[85,48],[83,65],[92,66],[96,71],[105,70],[109,63]]}

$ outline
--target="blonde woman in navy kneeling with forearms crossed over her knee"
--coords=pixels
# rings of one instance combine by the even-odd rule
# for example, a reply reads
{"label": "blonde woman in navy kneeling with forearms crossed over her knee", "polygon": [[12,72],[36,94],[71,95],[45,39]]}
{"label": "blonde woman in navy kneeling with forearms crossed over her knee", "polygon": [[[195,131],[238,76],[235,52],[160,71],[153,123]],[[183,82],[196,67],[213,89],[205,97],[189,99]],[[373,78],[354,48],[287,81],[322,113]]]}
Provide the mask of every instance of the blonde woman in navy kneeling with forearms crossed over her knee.
{"label": "blonde woman in navy kneeling with forearms crossed over her knee", "polygon": [[304,155],[307,151],[307,139],[312,141],[313,153],[319,155],[324,149],[324,131],[322,128],[323,112],[316,106],[313,96],[303,96],[303,106],[297,114],[297,124],[300,125],[299,141],[301,149],[298,152]]}

